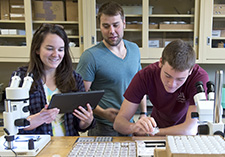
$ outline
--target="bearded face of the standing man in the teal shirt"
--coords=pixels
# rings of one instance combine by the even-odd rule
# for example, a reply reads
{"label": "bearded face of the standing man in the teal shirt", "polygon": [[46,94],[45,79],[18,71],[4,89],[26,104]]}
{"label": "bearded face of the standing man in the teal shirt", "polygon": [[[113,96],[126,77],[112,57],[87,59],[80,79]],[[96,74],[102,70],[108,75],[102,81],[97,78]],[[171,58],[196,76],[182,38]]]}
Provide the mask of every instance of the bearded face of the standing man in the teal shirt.
{"label": "bearded face of the standing man in the teal shirt", "polygon": [[103,40],[110,46],[117,46],[124,34],[125,21],[120,15],[108,16],[102,14],[100,18],[100,29]]}

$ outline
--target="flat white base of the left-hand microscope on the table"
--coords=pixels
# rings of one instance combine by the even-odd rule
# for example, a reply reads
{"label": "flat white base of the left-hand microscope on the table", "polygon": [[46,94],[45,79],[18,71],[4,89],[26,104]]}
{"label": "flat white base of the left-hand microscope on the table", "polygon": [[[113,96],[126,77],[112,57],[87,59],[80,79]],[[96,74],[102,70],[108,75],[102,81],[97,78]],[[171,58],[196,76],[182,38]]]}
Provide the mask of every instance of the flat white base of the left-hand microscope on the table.
{"label": "flat white base of the left-hand microscope on the table", "polygon": [[[34,139],[34,149],[28,149],[28,140]],[[16,135],[13,141],[13,151],[17,156],[36,156],[51,140],[50,135]],[[7,149],[4,136],[0,137],[0,154],[1,156],[15,156],[12,150]]]}

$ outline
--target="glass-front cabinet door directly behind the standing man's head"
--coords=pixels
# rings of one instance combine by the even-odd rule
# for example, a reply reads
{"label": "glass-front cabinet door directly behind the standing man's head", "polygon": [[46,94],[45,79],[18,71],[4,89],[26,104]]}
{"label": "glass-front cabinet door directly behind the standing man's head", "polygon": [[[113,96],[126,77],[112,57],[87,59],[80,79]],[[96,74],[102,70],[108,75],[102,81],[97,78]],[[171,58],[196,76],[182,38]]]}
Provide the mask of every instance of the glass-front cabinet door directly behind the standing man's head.
{"label": "glass-front cabinet door directly behind the standing man's head", "polygon": [[[142,0],[114,0],[121,4],[125,13],[126,28],[124,29],[124,39],[135,42],[140,50],[143,48],[143,1]],[[102,35],[97,20],[99,7],[105,0],[95,0],[92,3],[92,15],[95,17],[90,21],[95,24],[96,29],[92,33],[92,45],[102,41]]]}

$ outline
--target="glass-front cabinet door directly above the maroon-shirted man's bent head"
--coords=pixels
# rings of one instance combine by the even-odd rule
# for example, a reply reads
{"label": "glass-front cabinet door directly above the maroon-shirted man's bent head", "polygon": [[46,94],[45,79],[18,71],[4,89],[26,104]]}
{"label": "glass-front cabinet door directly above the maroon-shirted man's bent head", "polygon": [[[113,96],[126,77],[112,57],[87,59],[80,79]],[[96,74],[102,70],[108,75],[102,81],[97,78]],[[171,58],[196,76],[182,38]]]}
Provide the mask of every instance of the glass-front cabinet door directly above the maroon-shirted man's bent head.
{"label": "glass-front cabinet door directly above the maroon-shirted man's bent head", "polygon": [[148,56],[158,59],[171,41],[182,39],[193,46],[198,59],[199,0],[148,1]]}

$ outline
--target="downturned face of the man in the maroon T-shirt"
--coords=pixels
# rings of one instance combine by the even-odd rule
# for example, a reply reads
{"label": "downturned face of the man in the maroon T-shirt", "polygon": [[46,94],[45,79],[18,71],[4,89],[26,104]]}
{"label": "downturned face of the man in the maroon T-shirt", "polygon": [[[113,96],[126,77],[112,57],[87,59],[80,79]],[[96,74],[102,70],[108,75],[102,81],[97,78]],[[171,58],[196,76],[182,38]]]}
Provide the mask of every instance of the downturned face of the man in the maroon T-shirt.
{"label": "downturned face of the man in the maroon T-shirt", "polygon": [[182,72],[174,70],[168,62],[162,64],[160,61],[159,66],[161,67],[160,78],[168,93],[174,93],[185,83],[188,76],[191,74],[189,69]]}

